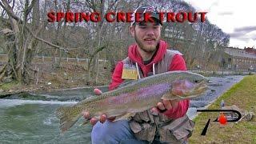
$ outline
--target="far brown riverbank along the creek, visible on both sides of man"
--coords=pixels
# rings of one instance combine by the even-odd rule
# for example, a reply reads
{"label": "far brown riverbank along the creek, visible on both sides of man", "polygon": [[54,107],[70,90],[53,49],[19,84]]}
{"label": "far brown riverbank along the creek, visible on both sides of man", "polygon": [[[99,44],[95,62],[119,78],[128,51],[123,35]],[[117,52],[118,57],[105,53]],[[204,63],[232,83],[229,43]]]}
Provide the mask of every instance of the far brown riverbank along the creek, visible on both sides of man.
{"label": "far brown riverbank along the creek, visible on both sides of man", "polygon": [[[106,64],[102,65],[98,74],[98,83],[86,82],[86,69],[84,62],[70,62],[62,64],[58,69],[53,69],[50,63],[40,63],[41,67],[38,74],[29,85],[22,85],[18,82],[6,82],[0,83],[0,98],[4,98],[12,94],[20,93],[38,93],[38,92],[50,92],[54,90],[72,90],[83,87],[98,87],[108,86],[110,83],[111,72],[107,70]],[[39,64],[38,64],[39,66]],[[75,74],[74,74],[75,71]],[[223,71],[203,71],[203,70],[190,70],[194,73],[202,74],[206,77],[225,77],[230,75],[245,75],[254,74],[253,72],[223,72]],[[36,82],[35,82],[36,81]]]}

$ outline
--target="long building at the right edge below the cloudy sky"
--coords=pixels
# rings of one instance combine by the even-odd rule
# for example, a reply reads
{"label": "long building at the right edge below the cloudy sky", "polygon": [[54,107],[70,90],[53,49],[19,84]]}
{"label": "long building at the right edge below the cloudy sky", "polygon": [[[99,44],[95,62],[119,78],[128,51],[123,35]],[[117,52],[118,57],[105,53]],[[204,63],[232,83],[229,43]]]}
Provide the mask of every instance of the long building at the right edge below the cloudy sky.
{"label": "long building at the right edge below the cloudy sky", "polygon": [[256,50],[226,47],[222,66],[229,70],[256,70]]}

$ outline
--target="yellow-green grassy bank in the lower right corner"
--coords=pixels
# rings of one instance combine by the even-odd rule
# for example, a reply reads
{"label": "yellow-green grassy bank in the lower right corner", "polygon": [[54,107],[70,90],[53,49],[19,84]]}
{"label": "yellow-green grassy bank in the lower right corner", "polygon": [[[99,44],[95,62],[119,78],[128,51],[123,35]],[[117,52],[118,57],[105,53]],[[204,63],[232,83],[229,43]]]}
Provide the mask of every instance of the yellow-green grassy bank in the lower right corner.
{"label": "yellow-green grassy bank in the lower right corner", "polygon": [[[241,82],[227,90],[208,109],[219,109],[222,99],[226,106],[237,105],[240,109],[256,114],[256,75],[246,76]],[[218,113],[202,113],[194,119],[196,122],[194,134],[190,143],[255,143],[256,144],[256,118],[252,121],[229,122],[221,126],[218,122],[210,122],[207,133],[201,136],[202,129],[210,118],[213,121]]]}

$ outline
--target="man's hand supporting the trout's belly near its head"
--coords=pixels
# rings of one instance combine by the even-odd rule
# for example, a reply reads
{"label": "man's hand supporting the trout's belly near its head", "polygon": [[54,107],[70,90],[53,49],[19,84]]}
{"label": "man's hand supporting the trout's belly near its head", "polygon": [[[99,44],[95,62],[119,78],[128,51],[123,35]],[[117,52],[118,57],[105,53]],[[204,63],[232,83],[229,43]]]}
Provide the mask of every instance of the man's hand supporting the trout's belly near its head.
{"label": "man's hand supporting the trout's belly near its head", "polygon": [[170,110],[172,108],[175,108],[178,106],[178,101],[177,100],[162,100],[162,102],[158,102],[158,106],[153,107],[151,110],[154,113],[165,113],[167,110]]}

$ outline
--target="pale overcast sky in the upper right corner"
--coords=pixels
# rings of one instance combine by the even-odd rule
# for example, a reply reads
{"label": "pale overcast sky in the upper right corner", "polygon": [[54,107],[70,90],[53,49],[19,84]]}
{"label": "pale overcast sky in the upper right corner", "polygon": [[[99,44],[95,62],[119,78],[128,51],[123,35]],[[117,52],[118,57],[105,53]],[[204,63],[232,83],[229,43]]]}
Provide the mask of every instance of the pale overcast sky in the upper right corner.
{"label": "pale overcast sky in the upper right corner", "polygon": [[256,48],[255,0],[185,0],[225,33],[230,34],[230,46]]}

